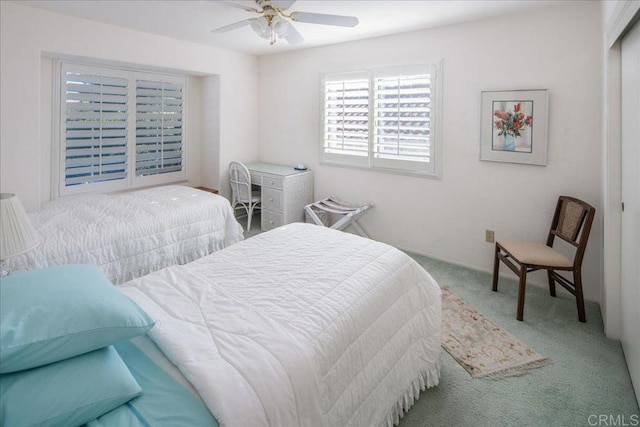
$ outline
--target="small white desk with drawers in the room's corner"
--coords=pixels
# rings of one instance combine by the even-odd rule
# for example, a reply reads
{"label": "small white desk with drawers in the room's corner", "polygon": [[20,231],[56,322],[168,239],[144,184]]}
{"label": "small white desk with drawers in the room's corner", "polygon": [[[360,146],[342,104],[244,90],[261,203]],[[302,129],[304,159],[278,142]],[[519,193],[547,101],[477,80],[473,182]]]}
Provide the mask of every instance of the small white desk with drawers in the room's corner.
{"label": "small white desk with drawers in the room's corner", "polygon": [[271,230],[304,222],[304,207],[313,202],[313,172],[271,163],[249,163],[251,183],[260,186],[261,228]]}

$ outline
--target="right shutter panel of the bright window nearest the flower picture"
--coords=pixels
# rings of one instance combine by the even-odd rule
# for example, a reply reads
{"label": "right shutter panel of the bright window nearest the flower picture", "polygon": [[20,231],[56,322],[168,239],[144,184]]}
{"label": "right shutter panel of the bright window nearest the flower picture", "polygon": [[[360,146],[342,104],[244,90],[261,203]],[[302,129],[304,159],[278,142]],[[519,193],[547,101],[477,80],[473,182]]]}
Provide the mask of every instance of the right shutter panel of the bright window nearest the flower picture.
{"label": "right shutter panel of the bright window nearest the flower picture", "polygon": [[430,169],[431,81],[427,67],[374,73],[374,166]]}

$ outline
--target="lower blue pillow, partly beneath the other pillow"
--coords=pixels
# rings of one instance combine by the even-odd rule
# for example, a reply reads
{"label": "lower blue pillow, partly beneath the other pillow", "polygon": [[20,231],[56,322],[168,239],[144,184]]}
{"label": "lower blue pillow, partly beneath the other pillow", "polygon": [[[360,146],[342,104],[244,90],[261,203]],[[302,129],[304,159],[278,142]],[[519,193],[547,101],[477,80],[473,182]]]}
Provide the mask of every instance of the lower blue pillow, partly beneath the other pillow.
{"label": "lower blue pillow, partly beneath the other pillow", "polygon": [[112,347],[0,375],[0,425],[79,426],[142,393]]}

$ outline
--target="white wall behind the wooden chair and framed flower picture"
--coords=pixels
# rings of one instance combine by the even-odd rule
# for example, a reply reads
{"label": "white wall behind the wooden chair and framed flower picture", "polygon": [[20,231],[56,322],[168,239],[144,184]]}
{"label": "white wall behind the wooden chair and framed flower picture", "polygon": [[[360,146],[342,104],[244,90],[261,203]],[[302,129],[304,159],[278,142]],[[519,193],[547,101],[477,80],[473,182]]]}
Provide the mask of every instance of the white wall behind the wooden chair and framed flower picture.
{"label": "white wall behind the wooden chair and framed flower picture", "polygon": [[[602,37],[598,2],[305,49],[259,60],[260,160],[303,162],[315,198],[376,206],[362,219],[377,239],[490,270],[496,238],[543,242],[558,195],[585,199],[597,216],[583,266],[585,295],[602,295]],[[320,74],[442,58],[442,180],[319,164]],[[548,89],[546,167],[481,162],[482,90]],[[506,270],[506,269],[503,269]],[[536,273],[534,281],[545,276]],[[490,286],[487,283],[487,286]]]}

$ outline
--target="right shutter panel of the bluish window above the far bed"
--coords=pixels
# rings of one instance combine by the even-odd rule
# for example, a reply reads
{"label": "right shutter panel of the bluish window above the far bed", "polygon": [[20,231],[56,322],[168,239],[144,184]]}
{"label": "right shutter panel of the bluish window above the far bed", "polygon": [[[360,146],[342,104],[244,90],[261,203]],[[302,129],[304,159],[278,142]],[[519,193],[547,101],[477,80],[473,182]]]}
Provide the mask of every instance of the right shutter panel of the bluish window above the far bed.
{"label": "right shutter panel of the bluish window above the far bed", "polygon": [[136,82],[136,175],[182,170],[183,85]]}

